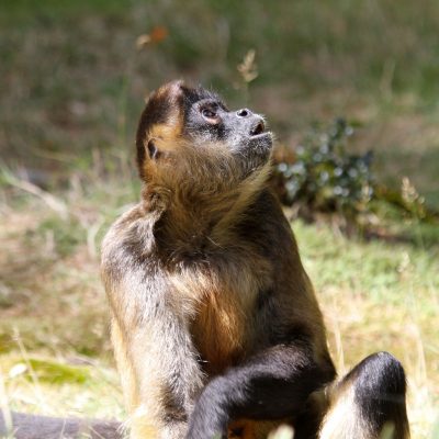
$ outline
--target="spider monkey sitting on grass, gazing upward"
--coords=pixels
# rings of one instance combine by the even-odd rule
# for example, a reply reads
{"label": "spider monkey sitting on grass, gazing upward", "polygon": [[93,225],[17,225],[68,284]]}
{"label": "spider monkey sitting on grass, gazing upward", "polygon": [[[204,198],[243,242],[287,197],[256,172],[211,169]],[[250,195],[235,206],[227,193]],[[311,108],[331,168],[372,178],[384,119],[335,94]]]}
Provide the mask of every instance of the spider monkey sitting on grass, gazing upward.
{"label": "spider monkey sitting on grass, gazing upward", "polygon": [[131,438],[257,439],[281,423],[295,439],[408,438],[395,358],[336,380],[263,117],[175,81],[149,97],[136,148],[140,202],[102,247]]}

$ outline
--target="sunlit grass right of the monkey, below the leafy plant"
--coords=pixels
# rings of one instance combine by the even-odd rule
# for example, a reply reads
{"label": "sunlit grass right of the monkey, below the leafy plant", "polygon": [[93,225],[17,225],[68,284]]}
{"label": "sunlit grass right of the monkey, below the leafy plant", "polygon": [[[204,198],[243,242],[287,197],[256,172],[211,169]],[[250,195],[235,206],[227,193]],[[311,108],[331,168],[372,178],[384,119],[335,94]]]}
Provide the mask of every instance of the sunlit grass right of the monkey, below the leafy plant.
{"label": "sunlit grass right of the monkey, below the leafy plant", "polygon": [[434,438],[439,412],[439,248],[347,239],[294,222],[340,373],[386,350],[408,382],[413,438]]}

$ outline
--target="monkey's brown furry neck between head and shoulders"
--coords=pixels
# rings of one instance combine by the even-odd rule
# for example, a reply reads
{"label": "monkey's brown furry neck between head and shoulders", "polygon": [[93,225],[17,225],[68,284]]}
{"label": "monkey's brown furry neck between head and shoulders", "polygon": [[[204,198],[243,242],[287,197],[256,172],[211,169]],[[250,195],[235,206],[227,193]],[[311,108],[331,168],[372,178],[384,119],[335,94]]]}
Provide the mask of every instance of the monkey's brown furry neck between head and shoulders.
{"label": "monkey's brown furry neck between head and shoulders", "polygon": [[270,168],[268,162],[233,188],[225,189],[225,184],[210,192],[188,184],[172,190],[147,184],[143,199],[146,210],[157,214],[154,227],[157,245],[170,251],[179,248],[196,251],[206,245],[233,244],[236,225],[268,185]]}

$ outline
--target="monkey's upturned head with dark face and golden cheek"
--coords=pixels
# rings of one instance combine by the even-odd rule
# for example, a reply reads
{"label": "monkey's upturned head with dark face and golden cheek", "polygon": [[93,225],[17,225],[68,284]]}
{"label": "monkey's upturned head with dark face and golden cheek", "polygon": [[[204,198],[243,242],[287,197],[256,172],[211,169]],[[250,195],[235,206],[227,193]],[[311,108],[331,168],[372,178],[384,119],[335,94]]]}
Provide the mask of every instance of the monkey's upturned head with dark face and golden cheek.
{"label": "monkey's upturned head with dark face and golden cheek", "polygon": [[272,137],[262,116],[230,111],[216,94],[175,81],[149,97],[136,146],[143,181],[209,195],[262,180]]}

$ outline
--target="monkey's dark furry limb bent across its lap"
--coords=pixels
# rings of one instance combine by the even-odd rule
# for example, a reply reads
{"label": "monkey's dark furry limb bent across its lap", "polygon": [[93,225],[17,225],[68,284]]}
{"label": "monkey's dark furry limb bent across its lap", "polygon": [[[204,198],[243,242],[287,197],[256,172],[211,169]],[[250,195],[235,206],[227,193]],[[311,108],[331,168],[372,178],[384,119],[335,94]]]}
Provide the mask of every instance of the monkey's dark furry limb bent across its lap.
{"label": "monkey's dark furry limb bent across its lap", "polygon": [[227,425],[238,418],[291,417],[333,375],[334,370],[319,367],[311,348],[302,344],[269,348],[209,383],[191,416],[187,438],[226,438]]}

